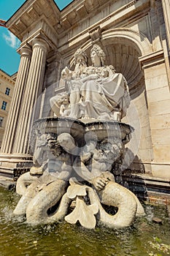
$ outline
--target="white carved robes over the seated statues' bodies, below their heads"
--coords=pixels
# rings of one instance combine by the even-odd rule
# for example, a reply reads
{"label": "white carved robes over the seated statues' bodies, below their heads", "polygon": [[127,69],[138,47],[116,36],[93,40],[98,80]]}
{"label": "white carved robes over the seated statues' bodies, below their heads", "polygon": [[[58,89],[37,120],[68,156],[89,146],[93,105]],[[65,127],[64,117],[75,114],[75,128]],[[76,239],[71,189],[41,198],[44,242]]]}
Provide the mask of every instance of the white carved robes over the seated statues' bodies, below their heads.
{"label": "white carved robes over the seated statues' bodies, below their heads", "polygon": [[[120,73],[96,80],[72,80],[71,91],[80,90],[81,100],[74,105],[75,113],[84,110],[88,118],[113,118],[115,111],[125,116],[130,104],[128,85]],[[79,116],[77,116],[79,118]]]}

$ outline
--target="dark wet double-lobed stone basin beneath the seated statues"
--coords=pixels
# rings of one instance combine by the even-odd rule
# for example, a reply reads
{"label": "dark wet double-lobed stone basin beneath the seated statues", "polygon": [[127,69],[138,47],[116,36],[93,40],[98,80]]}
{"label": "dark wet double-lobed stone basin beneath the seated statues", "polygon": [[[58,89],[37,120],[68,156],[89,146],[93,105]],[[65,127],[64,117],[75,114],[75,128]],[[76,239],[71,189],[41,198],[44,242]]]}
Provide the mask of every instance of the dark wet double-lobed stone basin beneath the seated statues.
{"label": "dark wet double-lobed stone basin beneath the seated statues", "polygon": [[92,138],[96,135],[98,141],[116,137],[122,140],[123,145],[125,145],[130,140],[131,132],[133,131],[133,127],[119,121],[80,121],[74,118],[61,117],[40,118],[34,121],[33,124],[31,148],[34,148],[37,132],[40,134],[53,133],[55,135],[61,135],[66,132],[72,135],[78,146],[83,146],[85,145],[85,135],[88,132],[92,132]]}

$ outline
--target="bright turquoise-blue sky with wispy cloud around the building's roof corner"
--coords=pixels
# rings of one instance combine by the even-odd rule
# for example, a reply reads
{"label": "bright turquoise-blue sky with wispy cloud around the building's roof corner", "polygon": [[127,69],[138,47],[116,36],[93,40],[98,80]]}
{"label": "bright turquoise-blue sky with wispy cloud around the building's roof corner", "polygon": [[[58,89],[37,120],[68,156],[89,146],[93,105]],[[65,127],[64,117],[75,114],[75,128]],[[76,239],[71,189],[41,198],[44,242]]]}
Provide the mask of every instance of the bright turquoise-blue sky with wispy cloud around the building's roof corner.
{"label": "bright turquoise-blue sky with wispy cloud around the building's roof corner", "polygon": [[[62,10],[73,0],[55,0],[58,8]],[[25,0],[0,0],[0,19],[8,20],[25,2]],[[20,55],[16,50],[20,41],[6,28],[0,26],[0,69],[13,75],[18,71]]]}

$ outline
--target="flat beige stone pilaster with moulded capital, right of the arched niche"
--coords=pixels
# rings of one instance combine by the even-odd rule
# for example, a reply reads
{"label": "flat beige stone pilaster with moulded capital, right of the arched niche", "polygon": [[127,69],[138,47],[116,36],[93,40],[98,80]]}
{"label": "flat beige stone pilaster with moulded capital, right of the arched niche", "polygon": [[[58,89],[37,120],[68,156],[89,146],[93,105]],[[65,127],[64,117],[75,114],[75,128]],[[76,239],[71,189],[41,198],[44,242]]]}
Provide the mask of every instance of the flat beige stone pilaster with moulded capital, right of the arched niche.
{"label": "flat beige stone pilaster with moulded capital, right of the arched niche", "polygon": [[163,50],[139,58],[144,69],[150,118],[152,176],[170,178],[170,92]]}

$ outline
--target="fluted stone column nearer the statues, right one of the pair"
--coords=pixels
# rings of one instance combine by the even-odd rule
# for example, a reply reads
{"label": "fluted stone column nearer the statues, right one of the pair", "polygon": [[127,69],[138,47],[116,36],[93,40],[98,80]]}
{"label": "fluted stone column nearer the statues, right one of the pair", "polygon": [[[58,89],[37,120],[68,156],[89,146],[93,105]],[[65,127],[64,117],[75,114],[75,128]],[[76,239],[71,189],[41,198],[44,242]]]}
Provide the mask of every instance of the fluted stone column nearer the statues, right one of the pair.
{"label": "fluted stone column nearer the statues, right one of the pair", "polygon": [[45,62],[48,45],[45,40],[37,38],[33,40],[33,53],[23,95],[23,104],[20,109],[18,127],[15,135],[13,154],[28,154],[28,135],[34,118],[35,103],[45,75]]}

